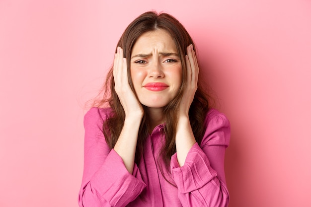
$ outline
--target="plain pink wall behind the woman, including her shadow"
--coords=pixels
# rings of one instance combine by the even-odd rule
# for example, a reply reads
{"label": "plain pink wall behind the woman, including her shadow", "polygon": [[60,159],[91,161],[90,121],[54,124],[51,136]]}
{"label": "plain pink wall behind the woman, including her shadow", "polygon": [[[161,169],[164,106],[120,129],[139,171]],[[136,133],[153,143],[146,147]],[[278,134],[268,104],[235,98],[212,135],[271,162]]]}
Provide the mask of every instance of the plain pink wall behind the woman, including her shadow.
{"label": "plain pink wall behind the woman, including her shadow", "polygon": [[0,207],[78,206],[85,102],[151,9],[192,35],[231,120],[230,207],[310,207],[310,0],[0,0]]}

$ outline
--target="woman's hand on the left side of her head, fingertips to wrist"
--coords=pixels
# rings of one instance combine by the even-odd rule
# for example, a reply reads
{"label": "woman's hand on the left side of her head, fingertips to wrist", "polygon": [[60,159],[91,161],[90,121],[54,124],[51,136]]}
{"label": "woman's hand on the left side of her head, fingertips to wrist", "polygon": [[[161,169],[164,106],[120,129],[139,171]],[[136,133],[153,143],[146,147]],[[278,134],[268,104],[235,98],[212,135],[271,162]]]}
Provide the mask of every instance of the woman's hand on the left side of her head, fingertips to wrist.
{"label": "woman's hand on the left side of her head, fingertips to wrist", "polygon": [[114,89],[123,106],[126,118],[129,116],[143,116],[143,109],[132,91],[127,72],[126,58],[123,58],[123,49],[118,47],[113,63]]}

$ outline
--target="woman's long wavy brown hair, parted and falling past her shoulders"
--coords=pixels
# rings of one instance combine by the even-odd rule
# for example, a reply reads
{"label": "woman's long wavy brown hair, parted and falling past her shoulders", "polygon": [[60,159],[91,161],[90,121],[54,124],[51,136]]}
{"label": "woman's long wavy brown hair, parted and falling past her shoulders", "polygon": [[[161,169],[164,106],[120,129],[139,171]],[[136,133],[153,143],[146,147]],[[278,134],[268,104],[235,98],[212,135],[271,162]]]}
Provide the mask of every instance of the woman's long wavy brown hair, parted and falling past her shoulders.
{"label": "woman's long wavy brown hair, parted and falling past her shoulders", "polygon": [[[163,146],[160,150],[159,160],[164,161],[165,168],[169,169],[169,161],[170,157],[176,152],[175,146],[175,136],[176,136],[176,125],[178,121],[178,106],[180,104],[186,83],[187,83],[187,67],[185,61],[186,48],[190,44],[193,45],[193,49],[195,50],[194,42],[192,41],[190,35],[183,27],[183,25],[175,19],[173,16],[167,13],[157,14],[156,12],[149,11],[143,13],[139,17],[137,17],[129,26],[125,29],[122,34],[117,47],[121,47],[123,49],[123,56],[127,58],[127,70],[128,70],[128,79],[129,84],[136,95],[131,78],[130,72],[130,57],[132,48],[137,41],[137,39],[144,33],[155,31],[157,29],[162,29],[170,34],[173,39],[178,55],[182,64],[182,83],[179,91],[177,92],[176,97],[171,100],[167,106],[164,107],[163,115],[164,115],[164,142]],[[117,48],[116,48],[117,51]],[[109,94],[107,98],[103,98],[100,100],[96,106],[103,106],[105,103],[109,104],[109,107],[112,109],[111,116],[107,119],[103,124],[103,132],[106,138],[106,142],[110,148],[113,148],[115,143],[117,142],[121,130],[124,125],[125,120],[125,112],[120,103],[117,93],[114,90],[114,78],[113,78],[113,66],[109,70],[106,78],[105,84],[105,93]],[[138,99],[138,98],[137,98]],[[202,88],[201,80],[198,82],[198,89],[195,93],[194,100],[190,106],[189,110],[189,120],[191,123],[192,131],[196,141],[200,144],[204,135],[204,120],[206,113],[209,109],[209,98],[208,95]],[[143,106],[145,111],[144,117],[142,119],[138,141],[136,147],[136,155],[135,162],[139,163],[144,151],[144,143],[146,138],[148,137],[150,124],[148,119],[148,113],[146,113],[146,109]],[[163,171],[161,170],[163,174]]]}

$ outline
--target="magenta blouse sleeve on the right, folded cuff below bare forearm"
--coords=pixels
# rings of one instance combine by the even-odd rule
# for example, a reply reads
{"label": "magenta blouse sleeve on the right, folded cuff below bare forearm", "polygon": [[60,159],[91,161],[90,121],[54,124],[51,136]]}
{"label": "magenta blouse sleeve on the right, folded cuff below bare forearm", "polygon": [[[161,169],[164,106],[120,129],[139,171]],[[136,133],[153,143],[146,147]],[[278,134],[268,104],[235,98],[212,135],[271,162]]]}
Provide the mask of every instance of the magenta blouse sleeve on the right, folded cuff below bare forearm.
{"label": "magenta blouse sleeve on the right, folded cuff below bare forearm", "polygon": [[180,167],[177,154],[171,158],[171,173],[183,207],[228,207],[224,159],[230,140],[230,123],[212,109],[206,118],[201,145],[195,143]]}

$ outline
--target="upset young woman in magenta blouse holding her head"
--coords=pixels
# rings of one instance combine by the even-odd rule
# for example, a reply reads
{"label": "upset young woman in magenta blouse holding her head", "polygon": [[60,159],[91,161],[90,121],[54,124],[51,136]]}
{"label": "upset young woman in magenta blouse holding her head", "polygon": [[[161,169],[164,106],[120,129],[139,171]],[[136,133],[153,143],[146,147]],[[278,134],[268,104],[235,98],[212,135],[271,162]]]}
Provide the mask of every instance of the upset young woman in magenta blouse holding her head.
{"label": "upset young woman in magenta blouse holding her head", "polygon": [[106,86],[84,117],[80,207],[228,206],[230,124],[209,107],[174,17],[146,12],[126,28]]}

